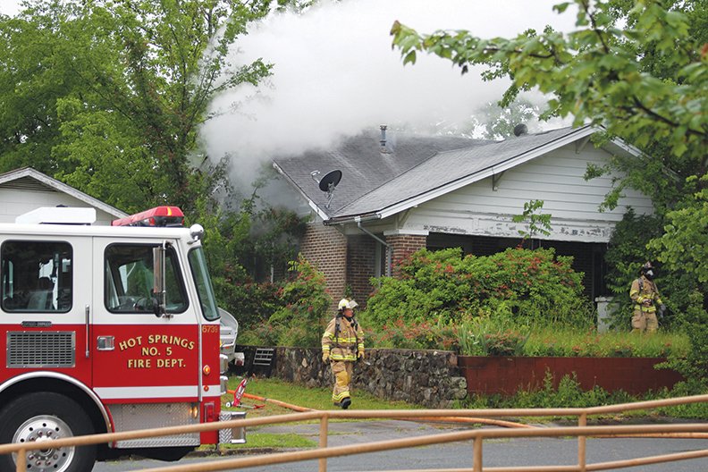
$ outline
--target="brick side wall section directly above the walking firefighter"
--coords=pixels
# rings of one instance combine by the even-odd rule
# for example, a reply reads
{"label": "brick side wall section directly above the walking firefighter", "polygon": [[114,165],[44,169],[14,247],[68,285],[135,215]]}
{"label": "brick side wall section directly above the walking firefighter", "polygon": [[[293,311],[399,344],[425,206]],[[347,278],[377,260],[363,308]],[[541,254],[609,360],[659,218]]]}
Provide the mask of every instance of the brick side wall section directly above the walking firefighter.
{"label": "brick side wall section directly above the walking firefighter", "polygon": [[332,226],[311,223],[300,243],[300,252],[325,274],[327,291],[336,309],[347,283],[347,238]]}

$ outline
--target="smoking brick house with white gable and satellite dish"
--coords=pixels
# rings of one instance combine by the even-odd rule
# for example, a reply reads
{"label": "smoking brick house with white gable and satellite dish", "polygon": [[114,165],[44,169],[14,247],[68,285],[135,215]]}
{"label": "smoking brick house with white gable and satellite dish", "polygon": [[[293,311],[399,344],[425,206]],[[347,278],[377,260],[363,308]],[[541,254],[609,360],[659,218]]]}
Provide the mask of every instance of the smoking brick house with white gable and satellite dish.
{"label": "smoking brick house with white gable and satellite dish", "polygon": [[[628,206],[642,215],[653,205],[627,190],[616,208],[600,212],[612,178],[586,181],[584,174],[587,164],[639,151],[620,139],[594,147],[589,141],[598,130],[591,126],[521,131],[488,141],[387,136],[382,126],[380,136],[364,132],[333,149],[276,157],[275,169],[316,215],[301,252],[325,273],[335,298],[350,291],[364,300],[370,277],[395,276],[400,260],[417,249],[461,247],[481,256],[518,246],[528,225],[513,216],[524,203],[543,200],[551,233],[535,234],[531,245],[575,257],[586,294],[606,294],[603,256],[614,224]],[[330,171],[341,171],[341,181]]]}

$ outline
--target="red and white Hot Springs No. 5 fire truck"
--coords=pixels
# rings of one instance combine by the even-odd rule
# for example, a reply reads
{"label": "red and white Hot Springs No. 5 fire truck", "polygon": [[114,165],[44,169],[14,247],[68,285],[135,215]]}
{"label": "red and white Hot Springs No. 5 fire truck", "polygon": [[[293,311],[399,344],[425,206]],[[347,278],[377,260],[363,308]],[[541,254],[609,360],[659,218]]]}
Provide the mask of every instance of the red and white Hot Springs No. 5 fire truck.
{"label": "red and white Hot Springs No. 5 fire truck", "polygon": [[[217,421],[226,391],[201,226],[184,228],[173,206],[112,226],[87,224],[90,212],[46,208],[0,224],[0,443],[46,443],[28,452],[28,470],[86,472],[121,454],[171,460],[220,436],[242,442],[242,431],[222,430],[52,447]],[[0,456],[0,470],[15,460]]]}

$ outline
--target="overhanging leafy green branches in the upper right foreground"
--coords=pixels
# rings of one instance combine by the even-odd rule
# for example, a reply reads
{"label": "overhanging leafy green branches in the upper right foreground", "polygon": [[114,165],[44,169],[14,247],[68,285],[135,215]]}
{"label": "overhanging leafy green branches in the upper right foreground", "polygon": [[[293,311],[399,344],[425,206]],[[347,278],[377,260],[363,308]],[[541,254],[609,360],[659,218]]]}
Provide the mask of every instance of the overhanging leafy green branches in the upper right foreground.
{"label": "overhanging leafy green branches in the upper right foreground", "polygon": [[[674,156],[695,159],[705,173],[708,160],[708,46],[691,34],[689,15],[704,19],[704,0],[628,2],[575,0],[554,7],[559,13],[577,5],[578,30],[562,34],[547,27],[517,38],[476,38],[468,31],[420,35],[398,21],[393,45],[403,63],[415,63],[418,51],[450,59],[468,72],[475,64],[490,67],[485,78],[509,76],[504,103],[519,90],[552,94],[546,115],[572,114],[575,124],[602,124],[612,135],[630,137],[639,147],[651,139],[668,143]],[[625,29],[620,20],[628,21]],[[637,55],[661,57],[662,73],[645,70]],[[647,128],[652,130],[646,132]]]}

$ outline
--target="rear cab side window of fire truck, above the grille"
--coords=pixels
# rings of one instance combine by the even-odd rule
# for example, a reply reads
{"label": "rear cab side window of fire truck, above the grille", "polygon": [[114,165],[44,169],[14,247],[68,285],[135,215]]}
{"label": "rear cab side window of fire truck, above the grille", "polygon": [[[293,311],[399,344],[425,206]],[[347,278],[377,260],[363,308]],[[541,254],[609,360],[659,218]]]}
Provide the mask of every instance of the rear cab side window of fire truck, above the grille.
{"label": "rear cab side window of fire truck, above the grille", "polygon": [[8,240],[0,250],[4,311],[65,313],[72,309],[71,244]]}

